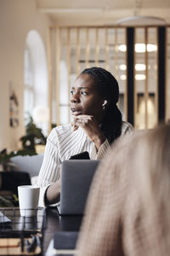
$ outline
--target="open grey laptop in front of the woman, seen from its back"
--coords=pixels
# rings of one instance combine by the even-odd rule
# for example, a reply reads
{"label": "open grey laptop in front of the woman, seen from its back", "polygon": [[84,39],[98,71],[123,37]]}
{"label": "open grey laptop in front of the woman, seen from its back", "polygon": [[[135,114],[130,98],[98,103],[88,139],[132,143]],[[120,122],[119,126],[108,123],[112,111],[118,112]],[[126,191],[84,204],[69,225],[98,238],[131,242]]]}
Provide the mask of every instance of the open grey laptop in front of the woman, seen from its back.
{"label": "open grey laptop in front of the woman, seen from its back", "polygon": [[65,160],[61,166],[59,215],[83,214],[99,160]]}

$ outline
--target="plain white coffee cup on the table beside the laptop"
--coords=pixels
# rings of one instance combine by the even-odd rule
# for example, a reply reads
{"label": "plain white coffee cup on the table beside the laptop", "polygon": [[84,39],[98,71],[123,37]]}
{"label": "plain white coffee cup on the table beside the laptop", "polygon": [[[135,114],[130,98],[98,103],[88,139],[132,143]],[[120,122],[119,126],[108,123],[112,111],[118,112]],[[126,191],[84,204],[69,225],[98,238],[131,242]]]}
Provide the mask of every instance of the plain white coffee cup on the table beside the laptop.
{"label": "plain white coffee cup on the table beside the laptop", "polygon": [[37,214],[40,188],[33,185],[18,186],[20,216],[32,217]]}

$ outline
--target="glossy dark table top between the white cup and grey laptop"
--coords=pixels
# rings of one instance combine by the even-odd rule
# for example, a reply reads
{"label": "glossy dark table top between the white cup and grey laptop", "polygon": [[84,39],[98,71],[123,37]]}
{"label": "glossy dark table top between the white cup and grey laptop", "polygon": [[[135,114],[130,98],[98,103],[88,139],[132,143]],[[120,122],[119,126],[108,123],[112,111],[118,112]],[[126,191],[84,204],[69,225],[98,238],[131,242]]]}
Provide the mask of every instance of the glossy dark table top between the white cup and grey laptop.
{"label": "glossy dark table top between the white cup and grey laptop", "polygon": [[78,231],[82,223],[81,215],[59,216],[56,208],[46,209],[46,229],[43,236],[43,255],[45,255],[49,242],[53,239],[55,231]]}

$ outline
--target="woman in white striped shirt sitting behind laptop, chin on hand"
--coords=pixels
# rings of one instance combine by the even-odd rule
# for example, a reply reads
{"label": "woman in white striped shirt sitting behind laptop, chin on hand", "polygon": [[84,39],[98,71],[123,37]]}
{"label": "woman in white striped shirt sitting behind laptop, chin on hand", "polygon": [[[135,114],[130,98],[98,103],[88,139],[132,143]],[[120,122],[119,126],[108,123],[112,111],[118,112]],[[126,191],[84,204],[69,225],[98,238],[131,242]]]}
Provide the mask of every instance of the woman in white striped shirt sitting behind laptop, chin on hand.
{"label": "woman in white striped shirt sitting behind laptop, chin on hand", "polygon": [[102,159],[117,137],[133,131],[122,121],[116,106],[119,87],[111,73],[101,67],[87,68],[71,88],[73,123],[56,127],[48,136],[38,177],[39,205],[59,201],[59,165],[71,155],[88,151],[91,159]]}

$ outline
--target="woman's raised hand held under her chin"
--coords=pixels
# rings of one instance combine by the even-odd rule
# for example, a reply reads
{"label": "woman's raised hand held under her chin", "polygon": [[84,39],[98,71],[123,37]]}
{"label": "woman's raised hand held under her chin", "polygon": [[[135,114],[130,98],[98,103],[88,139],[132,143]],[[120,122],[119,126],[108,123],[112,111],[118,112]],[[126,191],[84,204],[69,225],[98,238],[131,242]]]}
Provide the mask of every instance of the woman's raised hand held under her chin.
{"label": "woman's raised hand held under her chin", "polygon": [[105,142],[105,136],[99,129],[99,125],[94,119],[93,115],[80,114],[74,117],[73,131],[76,131],[78,127],[86,132],[87,136],[91,141],[94,142],[97,149]]}

